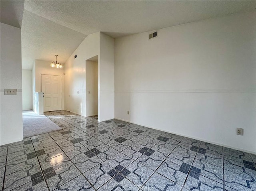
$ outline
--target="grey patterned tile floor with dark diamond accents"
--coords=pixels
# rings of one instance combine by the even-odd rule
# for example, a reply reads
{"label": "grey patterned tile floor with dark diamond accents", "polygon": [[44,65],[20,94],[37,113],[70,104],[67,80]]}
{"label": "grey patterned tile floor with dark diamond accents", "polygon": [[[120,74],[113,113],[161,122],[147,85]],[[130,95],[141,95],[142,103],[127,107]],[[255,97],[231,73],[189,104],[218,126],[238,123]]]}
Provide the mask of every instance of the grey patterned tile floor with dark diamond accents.
{"label": "grey patterned tile floor with dark diamond accents", "polygon": [[45,115],[62,130],[1,146],[1,190],[256,191],[256,155],[120,120]]}

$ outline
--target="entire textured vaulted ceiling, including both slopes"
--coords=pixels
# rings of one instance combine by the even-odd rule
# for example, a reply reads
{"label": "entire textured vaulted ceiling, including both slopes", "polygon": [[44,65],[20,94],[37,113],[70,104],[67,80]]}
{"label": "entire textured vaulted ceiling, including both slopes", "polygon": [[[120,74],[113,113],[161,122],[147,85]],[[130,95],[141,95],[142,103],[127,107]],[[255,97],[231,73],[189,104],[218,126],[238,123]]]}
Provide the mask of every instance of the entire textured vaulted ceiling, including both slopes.
{"label": "entire textured vaulted ceiling, including both slopes", "polygon": [[94,32],[122,37],[255,10],[256,1],[36,0],[25,1],[23,6],[22,68],[32,69],[34,60],[50,63],[55,54],[64,63]]}

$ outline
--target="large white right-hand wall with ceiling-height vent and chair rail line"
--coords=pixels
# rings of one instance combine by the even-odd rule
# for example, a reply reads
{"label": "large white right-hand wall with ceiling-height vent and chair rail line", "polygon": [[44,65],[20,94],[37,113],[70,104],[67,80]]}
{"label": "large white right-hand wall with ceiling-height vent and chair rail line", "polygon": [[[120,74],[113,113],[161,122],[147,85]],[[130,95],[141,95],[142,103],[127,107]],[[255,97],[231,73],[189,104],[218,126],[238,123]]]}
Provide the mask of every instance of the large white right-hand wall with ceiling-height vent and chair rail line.
{"label": "large white right-hand wall with ceiling-height vent and chair rail line", "polygon": [[255,153],[255,23],[247,12],[115,39],[115,118]]}

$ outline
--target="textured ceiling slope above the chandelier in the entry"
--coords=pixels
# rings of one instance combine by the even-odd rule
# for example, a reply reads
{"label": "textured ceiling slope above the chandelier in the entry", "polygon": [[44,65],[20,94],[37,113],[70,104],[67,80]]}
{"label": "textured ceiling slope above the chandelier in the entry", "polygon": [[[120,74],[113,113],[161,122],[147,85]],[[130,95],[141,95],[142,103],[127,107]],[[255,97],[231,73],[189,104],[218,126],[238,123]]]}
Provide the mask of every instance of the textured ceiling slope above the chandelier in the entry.
{"label": "textured ceiling slope above the chandelier in the entry", "polygon": [[58,25],[24,10],[22,28],[22,69],[32,69],[34,61],[64,63],[86,35]]}

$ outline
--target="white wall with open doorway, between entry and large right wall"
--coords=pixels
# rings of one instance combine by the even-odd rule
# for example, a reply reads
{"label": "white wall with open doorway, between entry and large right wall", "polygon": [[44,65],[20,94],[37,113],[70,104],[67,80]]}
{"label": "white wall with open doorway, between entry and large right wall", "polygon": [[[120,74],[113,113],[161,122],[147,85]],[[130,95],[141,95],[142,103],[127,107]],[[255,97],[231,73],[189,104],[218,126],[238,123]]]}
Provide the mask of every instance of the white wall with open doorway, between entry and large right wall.
{"label": "white wall with open doorway, between entry and large right wall", "polygon": [[86,60],[97,55],[98,121],[104,121],[114,118],[114,39],[101,32],[88,35],[65,63],[65,110],[86,116]]}

